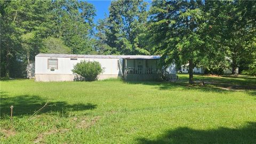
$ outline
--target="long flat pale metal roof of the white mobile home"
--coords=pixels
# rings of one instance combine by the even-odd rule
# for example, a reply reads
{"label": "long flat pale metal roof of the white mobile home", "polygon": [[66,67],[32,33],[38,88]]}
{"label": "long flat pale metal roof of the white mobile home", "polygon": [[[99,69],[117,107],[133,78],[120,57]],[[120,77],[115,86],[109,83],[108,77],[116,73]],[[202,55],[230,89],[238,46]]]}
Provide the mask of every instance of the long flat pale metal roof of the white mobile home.
{"label": "long flat pale metal roof of the white mobile home", "polygon": [[51,58],[98,58],[98,59],[160,59],[161,55],[82,55],[82,54],[49,54],[39,53],[36,57]]}

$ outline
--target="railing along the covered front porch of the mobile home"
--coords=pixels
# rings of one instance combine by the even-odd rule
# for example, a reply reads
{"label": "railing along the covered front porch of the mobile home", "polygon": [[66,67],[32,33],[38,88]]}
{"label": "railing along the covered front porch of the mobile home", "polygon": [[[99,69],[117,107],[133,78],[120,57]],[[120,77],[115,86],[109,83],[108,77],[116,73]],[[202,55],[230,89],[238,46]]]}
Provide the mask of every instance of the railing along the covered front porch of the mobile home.
{"label": "railing along the covered front porch of the mobile home", "polygon": [[125,67],[124,74],[162,74],[162,70],[157,68]]}

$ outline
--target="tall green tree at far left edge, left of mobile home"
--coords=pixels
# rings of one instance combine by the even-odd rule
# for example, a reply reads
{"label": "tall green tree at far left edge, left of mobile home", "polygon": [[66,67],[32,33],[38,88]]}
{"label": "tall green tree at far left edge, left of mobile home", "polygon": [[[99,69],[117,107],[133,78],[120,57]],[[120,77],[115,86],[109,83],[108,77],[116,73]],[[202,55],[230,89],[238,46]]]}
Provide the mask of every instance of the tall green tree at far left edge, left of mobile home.
{"label": "tall green tree at far left edge, left of mobile home", "polygon": [[[17,77],[16,63],[38,53],[50,17],[49,1],[1,1],[1,77]],[[15,69],[15,70],[13,70]],[[19,74],[21,76],[21,73]]]}

